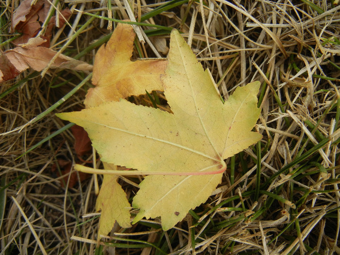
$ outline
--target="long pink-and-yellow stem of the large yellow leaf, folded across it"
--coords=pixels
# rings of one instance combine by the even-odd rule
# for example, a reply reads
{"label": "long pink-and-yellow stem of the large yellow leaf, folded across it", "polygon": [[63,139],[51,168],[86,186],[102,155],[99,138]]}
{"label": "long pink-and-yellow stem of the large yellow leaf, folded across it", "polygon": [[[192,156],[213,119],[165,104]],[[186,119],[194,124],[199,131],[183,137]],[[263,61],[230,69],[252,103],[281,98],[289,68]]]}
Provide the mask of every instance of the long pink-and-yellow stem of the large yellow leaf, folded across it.
{"label": "long pink-and-yellow stem of the large yellow leaf, folded across it", "polygon": [[218,174],[222,173],[227,169],[227,166],[223,160],[221,160],[220,164],[216,164],[211,167],[221,166],[220,169],[215,171],[207,171],[203,172],[203,170],[207,170],[208,168],[202,169],[198,172],[157,172],[157,171],[139,171],[139,170],[105,170],[105,169],[96,169],[89,168],[83,165],[75,164],[74,169],[77,171],[92,173],[92,174],[115,174],[115,175],[208,175],[208,174]]}

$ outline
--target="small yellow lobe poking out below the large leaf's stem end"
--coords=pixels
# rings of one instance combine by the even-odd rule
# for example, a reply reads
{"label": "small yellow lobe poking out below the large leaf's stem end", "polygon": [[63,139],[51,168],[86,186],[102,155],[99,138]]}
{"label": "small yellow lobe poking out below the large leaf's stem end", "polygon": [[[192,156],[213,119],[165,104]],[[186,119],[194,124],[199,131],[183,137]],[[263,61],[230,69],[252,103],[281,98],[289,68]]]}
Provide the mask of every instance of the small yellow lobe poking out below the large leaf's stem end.
{"label": "small yellow lobe poking out below the large leaf's stem end", "polygon": [[[103,163],[104,169],[116,170],[117,166]],[[102,210],[98,235],[107,235],[117,221],[121,227],[130,225],[130,203],[118,183],[118,175],[104,174],[96,202],[96,211]]]}

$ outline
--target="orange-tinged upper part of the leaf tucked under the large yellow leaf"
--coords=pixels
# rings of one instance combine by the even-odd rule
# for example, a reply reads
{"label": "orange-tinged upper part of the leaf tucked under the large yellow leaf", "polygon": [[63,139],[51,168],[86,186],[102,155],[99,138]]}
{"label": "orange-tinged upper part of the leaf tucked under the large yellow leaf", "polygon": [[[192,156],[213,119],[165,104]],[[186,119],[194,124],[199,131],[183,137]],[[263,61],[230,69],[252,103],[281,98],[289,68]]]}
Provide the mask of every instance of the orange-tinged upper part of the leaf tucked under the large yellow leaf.
{"label": "orange-tinged upper part of the leaf tucked under the large yellow leaf", "polygon": [[167,61],[131,61],[135,36],[131,25],[119,23],[107,44],[98,50],[92,77],[96,86],[87,92],[86,108],[145,94],[145,90],[163,91],[160,75],[164,74]]}

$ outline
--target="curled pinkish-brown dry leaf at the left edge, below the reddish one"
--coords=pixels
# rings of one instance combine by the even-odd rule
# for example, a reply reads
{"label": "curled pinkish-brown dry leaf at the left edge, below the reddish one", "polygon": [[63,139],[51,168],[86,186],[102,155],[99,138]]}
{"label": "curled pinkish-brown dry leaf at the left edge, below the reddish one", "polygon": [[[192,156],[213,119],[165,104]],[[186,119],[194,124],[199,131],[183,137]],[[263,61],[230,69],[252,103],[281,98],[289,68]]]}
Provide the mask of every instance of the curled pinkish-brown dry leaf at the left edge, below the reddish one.
{"label": "curled pinkish-brown dry leaf at the left edge, below the reddish one", "polygon": [[[20,72],[32,68],[41,71],[57,53],[49,48],[40,47],[45,40],[36,37],[29,39],[28,43],[21,44],[13,50],[4,52],[2,59],[5,65],[0,65],[0,83],[12,79]],[[51,68],[68,68],[74,70],[91,70],[92,66],[71,57],[60,54]],[[13,70],[14,75],[7,75],[8,69]]]}

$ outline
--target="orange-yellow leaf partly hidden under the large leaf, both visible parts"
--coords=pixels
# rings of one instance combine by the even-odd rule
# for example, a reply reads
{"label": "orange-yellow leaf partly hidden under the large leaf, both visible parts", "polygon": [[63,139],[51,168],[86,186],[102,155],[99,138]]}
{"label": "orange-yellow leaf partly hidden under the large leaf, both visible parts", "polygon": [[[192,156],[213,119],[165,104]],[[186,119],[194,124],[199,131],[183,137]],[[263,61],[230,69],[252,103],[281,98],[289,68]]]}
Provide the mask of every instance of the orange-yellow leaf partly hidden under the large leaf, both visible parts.
{"label": "orange-yellow leaf partly hidden under the large leaf, both visible parts", "polygon": [[[164,74],[166,60],[131,61],[135,32],[131,25],[119,23],[106,45],[97,52],[92,83],[85,98],[86,108],[103,102],[119,101],[131,95],[144,94],[145,90],[163,90],[160,75]],[[105,169],[116,167],[104,164]],[[102,211],[99,235],[107,235],[115,224],[130,227],[131,205],[117,182],[117,175],[103,176],[96,210]]]}

